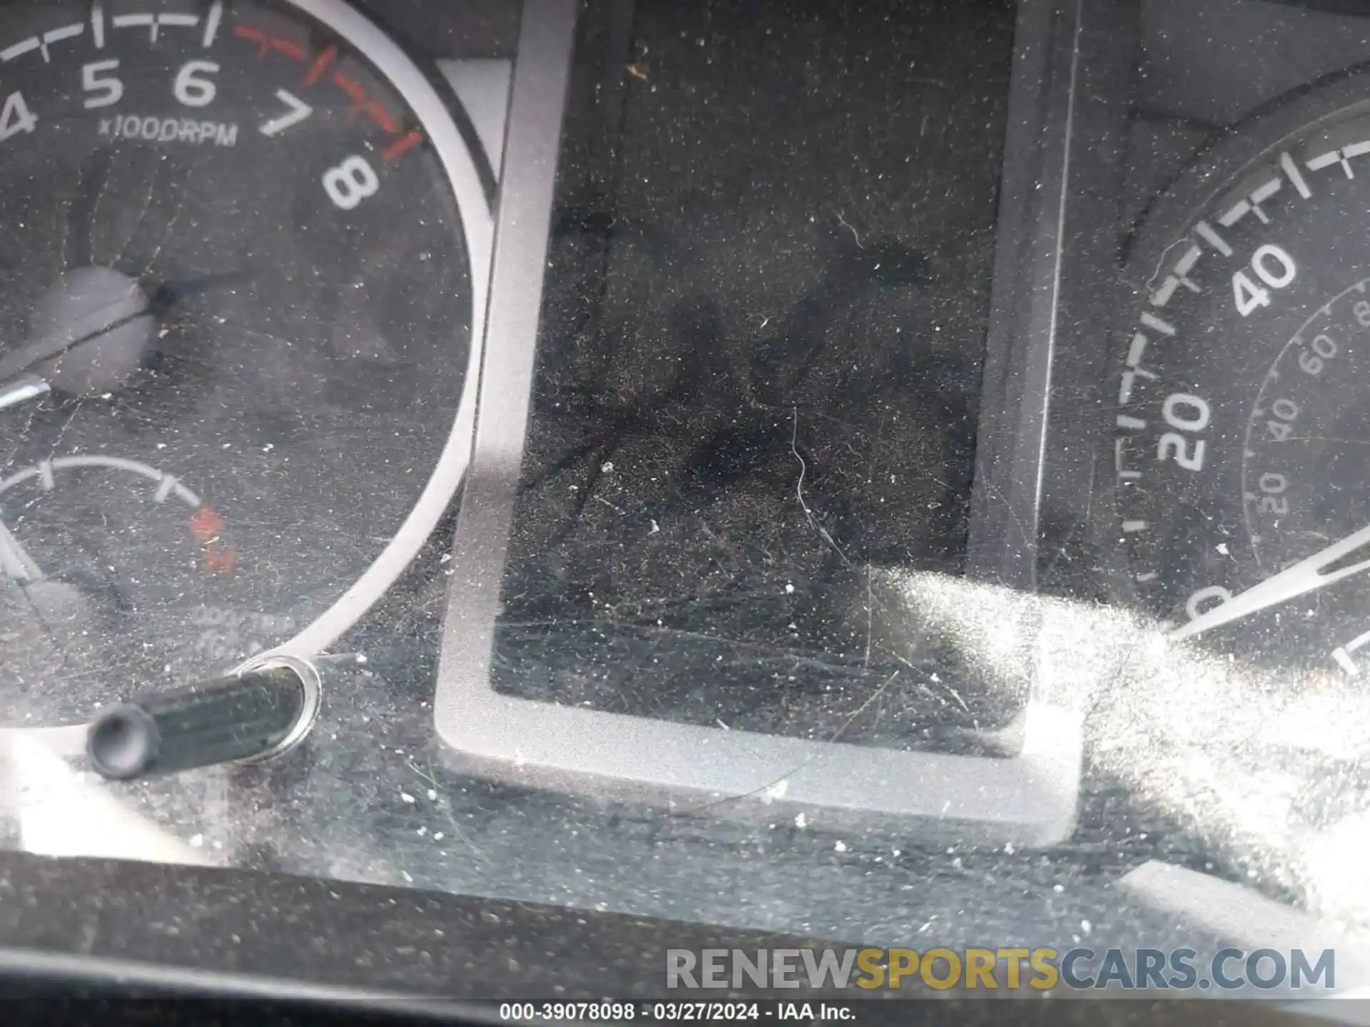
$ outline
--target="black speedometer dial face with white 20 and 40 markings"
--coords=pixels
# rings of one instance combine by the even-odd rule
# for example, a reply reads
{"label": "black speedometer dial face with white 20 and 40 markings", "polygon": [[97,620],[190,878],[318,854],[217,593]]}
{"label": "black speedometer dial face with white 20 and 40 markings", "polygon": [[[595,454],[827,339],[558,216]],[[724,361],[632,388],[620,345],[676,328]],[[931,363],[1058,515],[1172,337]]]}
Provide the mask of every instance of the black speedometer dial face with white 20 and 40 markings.
{"label": "black speedometer dial face with white 20 and 40 markings", "polygon": [[[1177,626],[1370,518],[1367,88],[1344,79],[1221,144],[1130,262],[1145,289],[1115,379],[1119,542],[1137,593]],[[1367,630],[1370,579],[1351,575],[1203,639],[1359,675]]]}

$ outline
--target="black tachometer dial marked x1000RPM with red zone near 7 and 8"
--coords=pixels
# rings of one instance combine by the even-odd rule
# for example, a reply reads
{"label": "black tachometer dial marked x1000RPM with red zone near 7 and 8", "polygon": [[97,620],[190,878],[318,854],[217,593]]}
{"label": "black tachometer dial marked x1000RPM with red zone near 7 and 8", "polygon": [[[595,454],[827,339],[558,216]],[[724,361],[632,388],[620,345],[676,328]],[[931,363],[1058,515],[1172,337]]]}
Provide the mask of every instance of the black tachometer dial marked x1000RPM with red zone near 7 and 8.
{"label": "black tachometer dial marked x1000RPM with red zone near 7 and 8", "polygon": [[23,715],[312,650],[364,611],[460,475],[486,244],[437,94],[340,5],[0,8]]}

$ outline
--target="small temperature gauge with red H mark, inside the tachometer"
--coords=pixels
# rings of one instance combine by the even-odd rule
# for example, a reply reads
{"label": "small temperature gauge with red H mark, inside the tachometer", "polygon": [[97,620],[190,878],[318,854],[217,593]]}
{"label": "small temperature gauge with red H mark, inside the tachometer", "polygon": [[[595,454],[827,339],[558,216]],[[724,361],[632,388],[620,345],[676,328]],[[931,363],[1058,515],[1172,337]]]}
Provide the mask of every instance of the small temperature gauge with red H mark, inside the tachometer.
{"label": "small temperature gauge with red H mark, inside the tachometer", "polygon": [[56,657],[70,664],[70,713],[89,711],[118,693],[99,668],[166,672],[156,637],[232,594],[237,560],[223,518],[148,463],[70,455],[12,471],[0,479],[0,574],[19,635],[4,644],[7,670],[37,657],[30,675],[42,681]]}

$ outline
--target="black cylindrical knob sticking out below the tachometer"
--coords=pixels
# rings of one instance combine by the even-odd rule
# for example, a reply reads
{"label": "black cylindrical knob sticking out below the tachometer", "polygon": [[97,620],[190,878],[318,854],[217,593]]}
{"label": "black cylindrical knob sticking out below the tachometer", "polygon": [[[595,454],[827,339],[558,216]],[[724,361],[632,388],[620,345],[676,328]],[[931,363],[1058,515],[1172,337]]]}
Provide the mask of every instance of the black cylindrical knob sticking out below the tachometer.
{"label": "black cylindrical knob sticking out below the tachometer", "polygon": [[263,657],[227,678],[153,692],[96,716],[86,753],[97,774],[126,781],[278,756],[314,726],[319,676],[292,657]]}

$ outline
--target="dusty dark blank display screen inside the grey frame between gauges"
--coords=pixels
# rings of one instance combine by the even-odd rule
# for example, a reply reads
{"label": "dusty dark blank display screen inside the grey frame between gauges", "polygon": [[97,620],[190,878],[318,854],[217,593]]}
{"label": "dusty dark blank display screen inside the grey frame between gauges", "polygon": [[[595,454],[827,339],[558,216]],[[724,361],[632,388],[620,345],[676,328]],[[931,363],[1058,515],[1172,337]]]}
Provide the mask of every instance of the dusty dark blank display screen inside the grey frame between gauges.
{"label": "dusty dark blank display screen inside the grey frame between gauges", "polygon": [[974,748],[1022,700],[977,690],[900,582],[964,559],[1012,5],[606,10],[573,75],[495,687]]}

